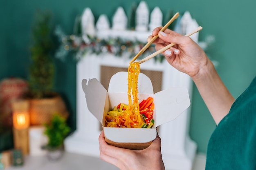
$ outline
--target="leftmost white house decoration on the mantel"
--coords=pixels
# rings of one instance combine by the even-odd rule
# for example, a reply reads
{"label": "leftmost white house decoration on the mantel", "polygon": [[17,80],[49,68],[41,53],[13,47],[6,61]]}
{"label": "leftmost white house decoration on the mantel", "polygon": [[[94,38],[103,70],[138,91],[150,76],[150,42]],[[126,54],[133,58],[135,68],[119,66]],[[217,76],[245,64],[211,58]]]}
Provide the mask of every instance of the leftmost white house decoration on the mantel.
{"label": "leftmost white house decoration on the mantel", "polygon": [[85,8],[81,17],[81,26],[83,35],[95,35],[94,16],[90,8]]}

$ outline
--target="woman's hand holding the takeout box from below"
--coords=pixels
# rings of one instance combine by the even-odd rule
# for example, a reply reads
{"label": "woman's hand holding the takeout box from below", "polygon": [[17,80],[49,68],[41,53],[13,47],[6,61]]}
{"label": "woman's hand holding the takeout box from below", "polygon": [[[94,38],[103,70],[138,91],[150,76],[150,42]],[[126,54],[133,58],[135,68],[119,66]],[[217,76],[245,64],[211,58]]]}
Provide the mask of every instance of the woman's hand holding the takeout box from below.
{"label": "woman's hand holding the takeout box from below", "polygon": [[161,139],[157,138],[144,150],[128,150],[108,145],[102,131],[99,136],[100,158],[121,170],[164,170]]}

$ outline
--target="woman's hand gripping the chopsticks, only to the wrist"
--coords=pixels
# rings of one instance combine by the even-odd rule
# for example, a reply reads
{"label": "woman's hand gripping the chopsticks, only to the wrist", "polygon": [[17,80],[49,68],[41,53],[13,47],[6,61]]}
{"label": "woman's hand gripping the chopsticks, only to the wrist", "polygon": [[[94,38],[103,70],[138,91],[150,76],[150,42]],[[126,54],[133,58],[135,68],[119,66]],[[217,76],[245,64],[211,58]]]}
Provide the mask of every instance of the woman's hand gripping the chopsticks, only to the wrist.
{"label": "woman's hand gripping the chopsticks, only to the wrist", "polygon": [[152,31],[152,36],[148,37],[148,42],[158,34],[159,38],[154,42],[156,50],[162,49],[170,43],[176,43],[170,49],[162,52],[168,63],[173,67],[188,74],[191,78],[195,78],[202,69],[207,68],[207,65],[211,63],[203,49],[190,37],[183,36],[170,29],[166,29],[164,32],[160,29],[162,27],[157,27]]}

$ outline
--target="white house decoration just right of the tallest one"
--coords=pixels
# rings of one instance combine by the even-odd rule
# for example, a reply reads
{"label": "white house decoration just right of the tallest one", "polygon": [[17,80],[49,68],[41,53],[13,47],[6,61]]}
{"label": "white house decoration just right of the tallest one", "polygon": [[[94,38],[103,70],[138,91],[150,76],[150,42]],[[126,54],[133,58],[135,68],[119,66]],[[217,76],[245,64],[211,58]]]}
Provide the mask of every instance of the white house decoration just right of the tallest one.
{"label": "white house decoration just right of the tallest one", "polygon": [[149,31],[153,31],[156,27],[162,26],[163,13],[159,7],[155,7],[150,14]]}

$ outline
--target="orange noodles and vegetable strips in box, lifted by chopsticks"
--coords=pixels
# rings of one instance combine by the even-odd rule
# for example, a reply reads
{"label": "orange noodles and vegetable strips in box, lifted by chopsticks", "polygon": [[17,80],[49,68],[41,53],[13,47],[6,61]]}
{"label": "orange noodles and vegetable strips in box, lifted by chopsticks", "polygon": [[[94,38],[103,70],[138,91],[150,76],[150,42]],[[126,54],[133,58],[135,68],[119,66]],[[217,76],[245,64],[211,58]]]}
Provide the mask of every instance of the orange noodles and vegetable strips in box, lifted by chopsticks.
{"label": "orange noodles and vegetable strips in box, lifted by chopsticks", "polygon": [[[149,124],[150,124],[149,128],[152,127],[154,123],[152,116],[150,116],[150,119],[148,119],[148,117],[145,116],[146,113],[144,114],[140,113],[139,99],[138,99],[139,73],[140,73],[139,63],[137,62],[131,63],[130,66],[128,67],[128,93],[127,93],[128,105],[120,103],[117,107],[114,107],[110,112],[108,112],[105,118],[106,127],[147,128]],[[150,100],[150,103],[147,103],[148,108],[146,107],[145,108],[147,109],[147,111],[148,109],[152,108],[152,110],[150,110],[150,114],[152,115],[153,109],[154,109],[153,98],[151,97],[149,98],[151,100]],[[147,115],[150,115],[150,114],[147,113]],[[145,123],[146,119],[148,119],[147,123]]]}

